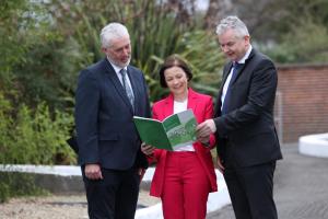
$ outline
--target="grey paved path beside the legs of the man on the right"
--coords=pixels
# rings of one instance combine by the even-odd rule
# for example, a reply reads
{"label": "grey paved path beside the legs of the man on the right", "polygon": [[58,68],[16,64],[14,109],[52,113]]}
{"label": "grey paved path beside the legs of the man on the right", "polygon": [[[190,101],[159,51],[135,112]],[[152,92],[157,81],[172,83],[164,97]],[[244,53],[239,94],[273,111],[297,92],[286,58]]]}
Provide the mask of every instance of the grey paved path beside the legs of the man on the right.
{"label": "grey paved path beside the legs of the man on the right", "polygon": [[[282,147],[278,162],[274,199],[279,219],[328,219],[328,159],[302,155],[297,145]],[[207,219],[234,219],[231,206]]]}

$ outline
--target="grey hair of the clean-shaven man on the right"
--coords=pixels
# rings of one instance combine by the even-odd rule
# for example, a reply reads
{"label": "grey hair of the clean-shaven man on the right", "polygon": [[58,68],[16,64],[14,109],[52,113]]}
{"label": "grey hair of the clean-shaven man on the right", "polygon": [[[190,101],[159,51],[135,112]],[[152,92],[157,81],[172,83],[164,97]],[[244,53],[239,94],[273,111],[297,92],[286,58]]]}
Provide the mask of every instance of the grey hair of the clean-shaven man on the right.
{"label": "grey hair of the clean-shaven man on the right", "polygon": [[221,20],[216,26],[215,33],[218,35],[222,35],[224,32],[231,28],[235,31],[237,37],[249,36],[247,26],[237,16],[226,16],[225,19]]}

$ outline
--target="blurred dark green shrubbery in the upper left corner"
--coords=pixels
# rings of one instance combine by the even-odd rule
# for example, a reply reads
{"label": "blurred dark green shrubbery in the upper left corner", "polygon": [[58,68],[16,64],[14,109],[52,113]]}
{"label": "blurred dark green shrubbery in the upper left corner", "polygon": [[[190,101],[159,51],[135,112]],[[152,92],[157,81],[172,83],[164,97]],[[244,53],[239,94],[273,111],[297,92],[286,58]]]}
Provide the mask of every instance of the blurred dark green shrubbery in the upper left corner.
{"label": "blurred dark green shrubbery in the upper left corner", "polygon": [[57,30],[42,2],[3,0],[0,14],[0,89],[33,107],[40,101],[72,106],[84,60],[75,41]]}

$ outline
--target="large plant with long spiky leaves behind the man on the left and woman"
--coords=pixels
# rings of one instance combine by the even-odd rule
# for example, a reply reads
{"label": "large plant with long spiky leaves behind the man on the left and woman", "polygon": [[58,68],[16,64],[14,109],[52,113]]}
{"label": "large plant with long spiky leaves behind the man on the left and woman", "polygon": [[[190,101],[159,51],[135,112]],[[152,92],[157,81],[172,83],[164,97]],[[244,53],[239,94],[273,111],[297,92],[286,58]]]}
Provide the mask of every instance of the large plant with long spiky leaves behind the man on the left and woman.
{"label": "large plant with long spiky leaves behind the man on the left and woman", "polygon": [[130,32],[132,65],[145,73],[152,101],[167,93],[160,87],[157,73],[163,59],[172,54],[180,54],[192,66],[197,74],[194,84],[197,90],[216,94],[223,59],[214,37],[196,31],[192,22],[179,23],[178,13],[165,3],[153,0],[112,1],[108,7],[108,1],[104,0],[85,0],[70,5],[60,2],[54,1],[51,8],[56,8],[56,12],[50,12],[57,21],[57,30],[73,38],[84,54],[81,55],[84,67],[103,57],[98,37],[101,28],[109,22],[121,22]]}

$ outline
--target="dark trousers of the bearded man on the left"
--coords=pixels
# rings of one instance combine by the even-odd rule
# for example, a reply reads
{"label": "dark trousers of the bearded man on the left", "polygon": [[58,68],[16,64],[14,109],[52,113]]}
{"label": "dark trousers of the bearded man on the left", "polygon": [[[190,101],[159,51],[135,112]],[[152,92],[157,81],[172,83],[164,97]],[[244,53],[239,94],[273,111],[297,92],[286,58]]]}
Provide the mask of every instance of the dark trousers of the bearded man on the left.
{"label": "dark trousers of the bearded man on the left", "polygon": [[126,171],[102,169],[103,180],[85,177],[90,219],[133,219],[137,208],[140,176],[137,169]]}

